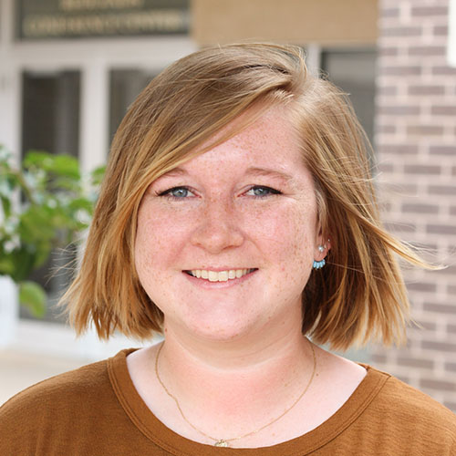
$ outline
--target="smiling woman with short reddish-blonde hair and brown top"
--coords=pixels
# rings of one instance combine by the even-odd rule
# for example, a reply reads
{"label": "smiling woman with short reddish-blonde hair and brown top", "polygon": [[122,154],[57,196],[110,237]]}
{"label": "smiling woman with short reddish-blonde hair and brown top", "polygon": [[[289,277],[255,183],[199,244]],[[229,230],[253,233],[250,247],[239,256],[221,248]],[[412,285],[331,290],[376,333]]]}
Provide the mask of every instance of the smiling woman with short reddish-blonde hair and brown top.
{"label": "smiling woman with short reddish-blonde hair and brown top", "polygon": [[63,299],[78,333],[164,341],[11,399],[0,453],[456,454],[450,410],[315,345],[402,340],[395,255],[425,265],[378,220],[366,144],[298,48],[165,69],[119,127]]}

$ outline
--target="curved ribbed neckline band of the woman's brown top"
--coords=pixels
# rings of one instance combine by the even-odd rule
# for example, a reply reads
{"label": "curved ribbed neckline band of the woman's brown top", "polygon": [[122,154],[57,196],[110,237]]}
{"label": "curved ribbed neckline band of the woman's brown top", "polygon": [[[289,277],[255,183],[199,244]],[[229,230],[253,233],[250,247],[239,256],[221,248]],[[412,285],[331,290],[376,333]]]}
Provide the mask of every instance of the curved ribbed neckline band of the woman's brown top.
{"label": "curved ribbed neckline band of the woman's brown top", "polygon": [[[338,434],[347,429],[354,420],[368,407],[370,402],[378,395],[389,378],[385,374],[368,365],[360,364],[366,368],[367,374],[359,383],[358,388],[337,412],[320,424],[316,429],[292,440],[286,440],[269,447],[261,448],[216,448],[212,445],[202,444],[186,439],[166,427],[150,411],[140,394],[136,390],[127,367],[127,356],[137,348],[129,348],[108,360],[109,380],[119,403],[130,417],[134,425],[142,434],[152,440],[163,450],[176,456],[205,456],[223,452],[224,455],[244,454],[244,456],[304,456],[326,445]],[[306,449],[303,453],[302,449]],[[300,450],[298,450],[300,449]],[[297,451],[297,452],[296,452]]]}

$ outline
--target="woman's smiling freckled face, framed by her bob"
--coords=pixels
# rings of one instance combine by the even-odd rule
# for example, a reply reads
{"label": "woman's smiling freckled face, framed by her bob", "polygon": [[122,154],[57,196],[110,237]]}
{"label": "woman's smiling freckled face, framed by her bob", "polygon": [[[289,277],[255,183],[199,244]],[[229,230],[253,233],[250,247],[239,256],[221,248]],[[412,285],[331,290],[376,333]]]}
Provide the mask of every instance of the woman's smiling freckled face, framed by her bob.
{"label": "woman's smiling freckled face, framed by her bob", "polygon": [[233,339],[301,326],[321,243],[316,195],[285,108],[153,181],[135,264],[165,328]]}

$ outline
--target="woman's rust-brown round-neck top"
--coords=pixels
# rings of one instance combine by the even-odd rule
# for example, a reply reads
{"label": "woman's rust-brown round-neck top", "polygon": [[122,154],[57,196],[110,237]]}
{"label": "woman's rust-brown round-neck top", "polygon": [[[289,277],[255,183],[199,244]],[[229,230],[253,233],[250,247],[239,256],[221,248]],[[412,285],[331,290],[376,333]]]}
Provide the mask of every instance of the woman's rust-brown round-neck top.
{"label": "woman's rust-brown round-neck top", "polygon": [[456,456],[456,415],[375,368],[315,430],[258,449],[215,448],[168,429],[140,399],[132,350],[49,378],[0,408],[2,456]]}

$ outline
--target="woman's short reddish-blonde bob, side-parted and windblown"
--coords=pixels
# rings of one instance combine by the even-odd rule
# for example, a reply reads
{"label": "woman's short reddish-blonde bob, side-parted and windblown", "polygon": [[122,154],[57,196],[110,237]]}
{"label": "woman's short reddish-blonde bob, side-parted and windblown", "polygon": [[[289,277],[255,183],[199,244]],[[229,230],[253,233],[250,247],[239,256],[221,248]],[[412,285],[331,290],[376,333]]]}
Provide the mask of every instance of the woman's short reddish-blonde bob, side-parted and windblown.
{"label": "woman's short reddish-blonde bob, side-parted and windblown", "polygon": [[[162,331],[163,314],[134,265],[144,192],[276,104],[290,109],[315,180],[319,222],[331,241],[326,266],[312,272],[303,291],[303,334],[336,349],[403,341],[409,301],[396,256],[426,264],[379,221],[368,140],[346,95],[306,70],[299,47],[272,44],[183,57],[131,105],[112,142],[78,274],[61,301],[78,334],[91,323],[101,338],[115,330],[138,338]],[[242,113],[241,127],[214,136]]]}

